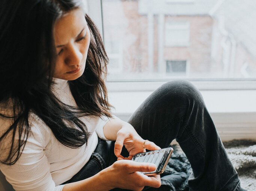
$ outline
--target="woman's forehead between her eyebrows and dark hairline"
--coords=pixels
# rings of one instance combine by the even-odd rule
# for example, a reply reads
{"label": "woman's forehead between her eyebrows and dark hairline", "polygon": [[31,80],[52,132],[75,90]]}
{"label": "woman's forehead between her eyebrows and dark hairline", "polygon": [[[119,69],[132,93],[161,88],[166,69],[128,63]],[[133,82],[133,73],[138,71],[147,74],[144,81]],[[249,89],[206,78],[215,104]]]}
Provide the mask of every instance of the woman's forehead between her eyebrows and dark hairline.
{"label": "woman's forehead between her eyebrows and dark hairline", "polygon": [[74,9],[59,18],[54,26],[55,42],[66,42],[75,38],[86,24],[82,9]]}

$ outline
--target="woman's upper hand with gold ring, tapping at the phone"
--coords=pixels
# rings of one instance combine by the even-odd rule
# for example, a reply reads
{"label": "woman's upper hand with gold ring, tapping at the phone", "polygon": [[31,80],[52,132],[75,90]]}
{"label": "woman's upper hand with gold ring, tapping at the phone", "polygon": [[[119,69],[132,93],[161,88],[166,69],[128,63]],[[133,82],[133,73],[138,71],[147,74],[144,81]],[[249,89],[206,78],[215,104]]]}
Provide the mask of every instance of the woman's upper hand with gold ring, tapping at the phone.
{"label": "woman's upper hand with gold ring, tapping at the phone", "polygon": [[[132,125],[129,123],[125,123],[122,128],[117,132],[117,139],[115,141],[115,148],[114,153],[115,156],[117,156],[117,160],[121,159],[129,159],[131,160],[132,157],[137,153],[143,153],[145,152],[145,148],[148,150],[158,150],[161,149],[159,146],[154,144],[151,141],[146,141],[144,144],[144,139],[141,138],[141,136],[138,135],[138,133],[135,131]],[[121,156],[121,151],[123,148],[123,145],[129,152],[128,157]]]}

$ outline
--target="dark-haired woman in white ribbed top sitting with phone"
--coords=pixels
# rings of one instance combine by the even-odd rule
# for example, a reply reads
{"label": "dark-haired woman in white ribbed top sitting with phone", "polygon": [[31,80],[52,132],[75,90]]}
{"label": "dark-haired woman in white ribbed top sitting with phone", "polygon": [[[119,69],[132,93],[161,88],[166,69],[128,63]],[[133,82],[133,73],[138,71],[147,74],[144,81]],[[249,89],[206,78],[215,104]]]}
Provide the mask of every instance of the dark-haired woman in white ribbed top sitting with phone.
{"label": "dark-haired woman in white ribbed top sitting with phone", "polygon": [[139,173],[156,166],[130,159],[174,138],[193,168],[191,190],[240,190],[190,83],[166,83],[129,123],[111,115],[108,57],[81,0],[2,0],[0,18],[0,169],[15,190],[159,188],[159,175]]}

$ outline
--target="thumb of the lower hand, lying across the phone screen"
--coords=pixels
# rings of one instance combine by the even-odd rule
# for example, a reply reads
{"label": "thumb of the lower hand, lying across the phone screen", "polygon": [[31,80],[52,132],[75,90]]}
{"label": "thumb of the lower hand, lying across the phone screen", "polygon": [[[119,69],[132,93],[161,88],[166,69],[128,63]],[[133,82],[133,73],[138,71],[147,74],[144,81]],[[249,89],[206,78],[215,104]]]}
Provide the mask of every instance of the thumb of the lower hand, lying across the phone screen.
{"label": "thumb of the lower hand, lying across the phone screen", "polygon": [[140,162],[134,162],[130,161],[129,164],[127,164],[127,171],[128,173],[133,172],[151,172],[156,170],[156,165],[152,163],[140,163]]}

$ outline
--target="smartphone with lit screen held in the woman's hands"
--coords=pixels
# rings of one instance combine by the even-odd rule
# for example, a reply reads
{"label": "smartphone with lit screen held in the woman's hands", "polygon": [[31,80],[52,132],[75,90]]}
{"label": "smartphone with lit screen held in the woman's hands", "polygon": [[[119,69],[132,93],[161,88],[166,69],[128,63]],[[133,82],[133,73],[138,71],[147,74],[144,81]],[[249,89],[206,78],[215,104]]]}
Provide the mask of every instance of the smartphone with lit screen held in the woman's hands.
{"label": "smartphone with lit screen held in the woman's hands", "polygon": [[132,157],[132,160],[135,162],[154,163],[156,165],[156,170],[142,173],[145,175],[159,175],[165,171],[166,165],[171,157],[172,152],[172,147],[162,148],[160,150],[135,154]]}

